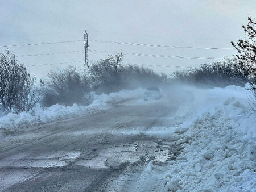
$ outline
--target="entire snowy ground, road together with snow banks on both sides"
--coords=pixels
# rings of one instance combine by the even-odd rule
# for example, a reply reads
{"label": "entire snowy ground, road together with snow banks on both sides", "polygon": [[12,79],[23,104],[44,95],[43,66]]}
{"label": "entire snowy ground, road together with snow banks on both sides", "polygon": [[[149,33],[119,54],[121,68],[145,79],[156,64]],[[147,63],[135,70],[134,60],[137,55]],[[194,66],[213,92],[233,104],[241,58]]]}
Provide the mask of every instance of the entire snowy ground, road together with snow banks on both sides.
{"label": "entire snowy ground, road together with snow banks on both sides", "polygon": [[163,92],[0,117],[0,191],[256,191],[248,86]]}

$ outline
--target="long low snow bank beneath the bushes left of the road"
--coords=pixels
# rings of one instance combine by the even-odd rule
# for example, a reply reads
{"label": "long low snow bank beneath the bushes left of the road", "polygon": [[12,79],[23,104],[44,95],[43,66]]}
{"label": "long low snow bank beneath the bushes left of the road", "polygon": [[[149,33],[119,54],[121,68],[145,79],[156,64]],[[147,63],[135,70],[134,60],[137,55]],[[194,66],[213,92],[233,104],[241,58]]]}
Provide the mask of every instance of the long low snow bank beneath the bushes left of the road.
{"label": "long low snow bank beneath the bushes left of the road", "polygon": [[68,119],[79,115],[93,114],[106,110],[115,103],[125,101],[127,99],[138,99],[143,94],[142,89],[122,90],[117,93],[95,95],[92,93],[94,100],[89,106],[73,106],[53,105],[51,107],[40,107],[37,105],[29,112],[21,114],[9,113],[0,117],[0,131],[34,126],[35,124],[43,124],[54,122],[57,120]]}

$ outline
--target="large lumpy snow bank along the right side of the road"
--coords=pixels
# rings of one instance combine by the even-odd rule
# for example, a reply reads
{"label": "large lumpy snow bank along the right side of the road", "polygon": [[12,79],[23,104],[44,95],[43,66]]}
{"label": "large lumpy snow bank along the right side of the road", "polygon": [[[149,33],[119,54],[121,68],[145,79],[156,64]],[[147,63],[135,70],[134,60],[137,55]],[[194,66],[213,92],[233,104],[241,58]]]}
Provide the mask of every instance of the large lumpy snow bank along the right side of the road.
{"label": "large lumpy snow bank along the right side of the road", "polygon": [[184,146],[181,155],[168,165],[167,191],[256,191],[251,97],[248,85],[215,88],[180,108],[177,130],[187,131],[177,141]]}

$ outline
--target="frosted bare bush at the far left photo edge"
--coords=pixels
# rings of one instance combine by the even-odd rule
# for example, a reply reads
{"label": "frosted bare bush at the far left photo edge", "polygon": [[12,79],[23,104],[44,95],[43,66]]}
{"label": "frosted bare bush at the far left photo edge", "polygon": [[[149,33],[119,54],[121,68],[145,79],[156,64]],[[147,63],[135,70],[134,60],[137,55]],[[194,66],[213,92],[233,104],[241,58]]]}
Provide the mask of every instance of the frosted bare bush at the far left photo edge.
{"label": "frosted bare bush at the far left photo edge", "polygon": [[30,77],[24,64],[12,52],[0,55],[0,101],[3,110],[19,113],[28,111],[40,99],[40,88]]}

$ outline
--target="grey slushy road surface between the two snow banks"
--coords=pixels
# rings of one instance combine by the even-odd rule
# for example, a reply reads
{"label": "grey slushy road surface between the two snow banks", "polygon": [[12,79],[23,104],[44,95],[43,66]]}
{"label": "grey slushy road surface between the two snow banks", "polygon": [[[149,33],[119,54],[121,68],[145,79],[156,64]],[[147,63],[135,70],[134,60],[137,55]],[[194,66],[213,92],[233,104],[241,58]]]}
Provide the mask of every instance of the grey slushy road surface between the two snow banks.
{"label": "grey slushy road surface between the two snow banks", "polygon": [[0,141],[0,190],[164,189],[164,174],[149,174],[161,172],[182,149],[170,132],[159,131],[175,124],[171,116],[177,108],[177,103],[131,101],[5,137]]}

